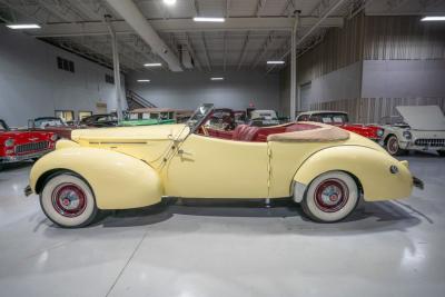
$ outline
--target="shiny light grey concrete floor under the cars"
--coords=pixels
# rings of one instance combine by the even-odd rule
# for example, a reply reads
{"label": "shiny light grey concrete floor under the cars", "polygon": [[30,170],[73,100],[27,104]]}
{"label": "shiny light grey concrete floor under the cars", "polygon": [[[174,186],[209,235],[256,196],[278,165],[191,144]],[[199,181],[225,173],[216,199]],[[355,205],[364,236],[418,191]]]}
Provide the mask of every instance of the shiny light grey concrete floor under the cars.
{"label": "shiny light grey concrete floor under the cars", "polygon": [[[445,296],[445,158],[407,156],[409,199],[320,225],[280,202],[165,204],[60,229],[0,172],[0,296]],[[376,185],[378,187],[378,185]]]}

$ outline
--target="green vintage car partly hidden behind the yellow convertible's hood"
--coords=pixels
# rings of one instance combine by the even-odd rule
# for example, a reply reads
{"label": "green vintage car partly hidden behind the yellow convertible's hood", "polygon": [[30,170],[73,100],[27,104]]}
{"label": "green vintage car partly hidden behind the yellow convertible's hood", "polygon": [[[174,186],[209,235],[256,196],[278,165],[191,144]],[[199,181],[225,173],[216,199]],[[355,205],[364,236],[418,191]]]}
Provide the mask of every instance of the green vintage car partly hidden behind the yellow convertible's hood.
{"label": "green vintage car partly hidden behind the yellow convertible's hood", "polygon": [[161,123],[184,122],[192,111],[169,108],[139,108],[128,111],[126,119],[119,126],[149,126]]}

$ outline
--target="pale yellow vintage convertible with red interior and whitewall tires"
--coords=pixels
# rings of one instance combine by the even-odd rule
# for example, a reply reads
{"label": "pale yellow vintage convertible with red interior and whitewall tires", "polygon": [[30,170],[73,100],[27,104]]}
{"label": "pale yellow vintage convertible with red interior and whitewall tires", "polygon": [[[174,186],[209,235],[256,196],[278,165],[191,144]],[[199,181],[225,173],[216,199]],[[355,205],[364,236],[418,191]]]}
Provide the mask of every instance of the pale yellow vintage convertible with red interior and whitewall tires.
{"label": "pale yellow vintage convertible with red interior and whitewall tires", "polygon": [[82,129],[39,159],[26,194],[40,195],[47,217],[62,227],[90,224],[99,209],[158,204],[162,197],[289,197],[312,219],[344,219],[366,201],[408,197],[406,161],[334,126],[290,122],[216,130],[212,105],[185,125]]}

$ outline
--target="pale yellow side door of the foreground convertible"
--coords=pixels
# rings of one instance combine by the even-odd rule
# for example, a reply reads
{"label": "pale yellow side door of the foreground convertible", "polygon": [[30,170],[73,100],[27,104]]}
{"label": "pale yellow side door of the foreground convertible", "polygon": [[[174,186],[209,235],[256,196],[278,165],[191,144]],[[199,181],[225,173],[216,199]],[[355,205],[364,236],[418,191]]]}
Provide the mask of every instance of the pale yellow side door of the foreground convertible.
{"label": "pale yellow side door of the foreground convertible", "polygon": [[190,135],[162,170],[167,196],[266,198],[266,142]]}

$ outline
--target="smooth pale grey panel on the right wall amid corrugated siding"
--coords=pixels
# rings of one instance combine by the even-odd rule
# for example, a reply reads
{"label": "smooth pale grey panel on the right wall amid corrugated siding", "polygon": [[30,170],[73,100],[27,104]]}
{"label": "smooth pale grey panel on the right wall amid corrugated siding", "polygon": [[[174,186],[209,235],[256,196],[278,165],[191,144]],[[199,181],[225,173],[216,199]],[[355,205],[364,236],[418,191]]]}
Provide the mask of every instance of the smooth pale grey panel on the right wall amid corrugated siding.
{"label": "smooth pale grey panel on the right wall amid corrugated siding", "polygon": [[445,60],[366,60],[363,98],[445,98]]}

